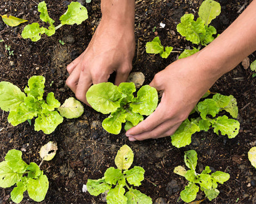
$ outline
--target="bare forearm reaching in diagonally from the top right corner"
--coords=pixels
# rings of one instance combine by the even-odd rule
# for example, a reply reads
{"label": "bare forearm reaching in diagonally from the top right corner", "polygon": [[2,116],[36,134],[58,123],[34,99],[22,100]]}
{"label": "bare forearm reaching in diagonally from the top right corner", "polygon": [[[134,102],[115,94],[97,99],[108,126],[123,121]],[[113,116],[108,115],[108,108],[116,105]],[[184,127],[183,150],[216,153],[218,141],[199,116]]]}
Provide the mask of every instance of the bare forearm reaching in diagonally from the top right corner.
{"label": "bare forearm reaching in diagonally from the top right corner", "polygon": [[205,71],[219,78],[256,50],[256,0],[210,45],[198,53]]}

